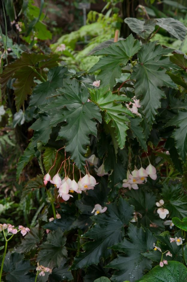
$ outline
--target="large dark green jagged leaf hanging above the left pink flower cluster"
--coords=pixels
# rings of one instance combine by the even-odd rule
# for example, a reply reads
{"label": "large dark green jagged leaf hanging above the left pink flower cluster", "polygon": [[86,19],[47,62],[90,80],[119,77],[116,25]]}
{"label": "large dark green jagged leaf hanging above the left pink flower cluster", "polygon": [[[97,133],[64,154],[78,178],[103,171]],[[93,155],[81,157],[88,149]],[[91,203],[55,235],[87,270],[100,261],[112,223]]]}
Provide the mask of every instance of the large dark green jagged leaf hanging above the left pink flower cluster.
{"label": "large dark green jagged leaf hanging above the left pink flower cluster", "polygon": [[[66,139],[65,150],[71,153],[71,159],[79,169],[85,166],[86,145],[90,144],[89,134],[96,136],[96,120],[102,121],[99,108],[88,102],[87,88],[76,79],[64,79],[61,94],[41,111],[50,114],[50,126],[66,122],[61,126],[58,139]],[[53,110],[56,111],[54,116]],[[42,140],[41,140],[42,141]]]}

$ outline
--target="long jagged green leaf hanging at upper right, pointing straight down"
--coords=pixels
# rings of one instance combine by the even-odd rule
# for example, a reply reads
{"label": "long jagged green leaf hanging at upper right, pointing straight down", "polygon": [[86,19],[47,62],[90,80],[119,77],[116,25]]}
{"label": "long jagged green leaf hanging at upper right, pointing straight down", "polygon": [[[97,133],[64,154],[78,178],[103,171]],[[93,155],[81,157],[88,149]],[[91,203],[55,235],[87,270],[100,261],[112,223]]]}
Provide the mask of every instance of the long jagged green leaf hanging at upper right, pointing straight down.
{"label": "long jagged green leaf hanging at upper right, pointing straight down", "polygon": [[138,64],[133,68],[131,78],[136,80],[135,95],[140,98],[150,128],[154,123],[157,109],[161,107],[160,99],[166,97],[160,88],[162,86],[175,88],[174,82],[163,69],[169,64],[169,58],[163,55],[169,52],[170,49],[155,45],[155,42],[144,44],[138,52]]}

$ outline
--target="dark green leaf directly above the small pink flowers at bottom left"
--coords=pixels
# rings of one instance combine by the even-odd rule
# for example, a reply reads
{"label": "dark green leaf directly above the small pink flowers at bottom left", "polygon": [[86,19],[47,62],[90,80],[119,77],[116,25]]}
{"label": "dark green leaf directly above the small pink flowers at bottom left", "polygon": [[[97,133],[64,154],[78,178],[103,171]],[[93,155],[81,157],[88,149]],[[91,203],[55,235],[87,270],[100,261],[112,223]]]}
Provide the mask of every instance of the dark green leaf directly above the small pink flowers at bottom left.
{"label": "dark green leaf directly above the small pink flowers at bottom left", "polygon": [[40,246],[37,261],[45,267],[60,267],[62,259],[67,256],[65,243],[66,238],[60,229],[50,232],[46,242]]}

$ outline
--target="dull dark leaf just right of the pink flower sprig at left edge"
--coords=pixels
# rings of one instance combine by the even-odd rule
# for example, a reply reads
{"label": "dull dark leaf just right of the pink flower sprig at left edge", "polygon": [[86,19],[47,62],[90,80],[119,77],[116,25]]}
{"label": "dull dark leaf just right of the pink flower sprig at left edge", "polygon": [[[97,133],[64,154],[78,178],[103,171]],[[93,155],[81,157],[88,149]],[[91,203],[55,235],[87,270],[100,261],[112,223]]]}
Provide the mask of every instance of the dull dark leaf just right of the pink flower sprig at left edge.
{"label": "dull dark leaf just right of the pink flower sprig at left edge", "polygon": [[25,235],[21,244],[16,248],[17,253],[28,253],[30,250],[36,249],[43,238],[43,229],[38,227],[31,228],[31,231]]}

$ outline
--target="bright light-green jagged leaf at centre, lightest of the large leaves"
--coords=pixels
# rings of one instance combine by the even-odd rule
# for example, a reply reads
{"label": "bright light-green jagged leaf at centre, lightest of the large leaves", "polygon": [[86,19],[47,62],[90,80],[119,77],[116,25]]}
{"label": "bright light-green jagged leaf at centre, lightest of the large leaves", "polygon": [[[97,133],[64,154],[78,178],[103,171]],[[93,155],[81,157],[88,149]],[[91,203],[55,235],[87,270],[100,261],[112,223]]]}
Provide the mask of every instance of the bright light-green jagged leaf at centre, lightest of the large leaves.
{"label": "bright light-green jagged leaf at centre, lightest of the large leaves", "polygon": [[126,131],[128,129],[127,123],[129,119],[126,114],[132,116],[131,112],[120,102],[126,102],[129,98],[112,94],[107,87],[100,89],[90,89],[91,100],[105,113],[104,119],[111,127],[114,127],[116,139],[120,149],[123,149],[126,142]]}

